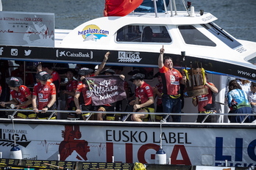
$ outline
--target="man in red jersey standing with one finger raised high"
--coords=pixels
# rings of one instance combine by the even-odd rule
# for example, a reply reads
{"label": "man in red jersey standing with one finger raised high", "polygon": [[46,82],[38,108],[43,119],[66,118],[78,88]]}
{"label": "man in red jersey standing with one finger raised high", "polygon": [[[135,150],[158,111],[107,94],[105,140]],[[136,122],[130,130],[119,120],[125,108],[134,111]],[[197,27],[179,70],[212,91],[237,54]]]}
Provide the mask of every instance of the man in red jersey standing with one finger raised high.
{"label": "man in red jersey standing with one finger raised high", "polygon": [[[180,86],[185,84],[185,76],[182,76],[178,70],[174,69],[174,64],[170,56],[163,57],[165,49],[160,49],[158,58],[159,72],[163,81],[163,112],[181,113]],[[173,122],[181,122],[180,115],[172,115]]]}

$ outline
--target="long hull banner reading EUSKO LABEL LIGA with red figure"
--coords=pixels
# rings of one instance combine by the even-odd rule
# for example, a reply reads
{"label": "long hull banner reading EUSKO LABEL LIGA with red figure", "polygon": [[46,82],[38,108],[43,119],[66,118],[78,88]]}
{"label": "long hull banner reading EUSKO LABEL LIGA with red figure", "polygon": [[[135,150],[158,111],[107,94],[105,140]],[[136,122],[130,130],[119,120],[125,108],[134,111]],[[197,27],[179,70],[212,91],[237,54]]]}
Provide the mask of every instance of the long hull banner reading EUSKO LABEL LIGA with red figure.
{"label": "long hull banner reading EUSKO LABEL LIGA with red figure", "polygon": [[[115,125],[118,124],[115,122]],[[10,157],[14,138],[24,159],[154,163],[160,127],[18,124],[0,125],[0,150]],[[163,150],[173,165],[256,165],[255,128],[163,127]]]}

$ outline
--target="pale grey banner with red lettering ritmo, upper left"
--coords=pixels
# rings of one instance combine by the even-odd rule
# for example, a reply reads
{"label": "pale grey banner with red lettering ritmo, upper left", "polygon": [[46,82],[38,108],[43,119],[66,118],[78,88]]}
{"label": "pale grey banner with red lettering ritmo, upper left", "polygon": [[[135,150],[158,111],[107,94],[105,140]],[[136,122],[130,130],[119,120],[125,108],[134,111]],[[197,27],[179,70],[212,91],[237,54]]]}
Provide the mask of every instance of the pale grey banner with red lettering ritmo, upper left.
{"label": "pale grey banner with red lettering ritmo, upper left", "polygon": [[0,45],[54,47],[54,14],[0,12]]}

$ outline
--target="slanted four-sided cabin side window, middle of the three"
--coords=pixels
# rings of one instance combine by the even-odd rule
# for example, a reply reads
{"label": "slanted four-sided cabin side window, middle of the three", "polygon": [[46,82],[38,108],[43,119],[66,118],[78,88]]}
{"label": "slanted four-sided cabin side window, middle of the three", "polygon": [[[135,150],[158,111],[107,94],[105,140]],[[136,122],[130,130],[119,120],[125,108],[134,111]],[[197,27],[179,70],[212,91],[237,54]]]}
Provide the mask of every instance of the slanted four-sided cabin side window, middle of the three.
{"label": "slanted four-sided cabin side window, middle of the three", "polygon": [[216,46],[216,43],[193,26],[178,26],[178,28],[186,44]]}

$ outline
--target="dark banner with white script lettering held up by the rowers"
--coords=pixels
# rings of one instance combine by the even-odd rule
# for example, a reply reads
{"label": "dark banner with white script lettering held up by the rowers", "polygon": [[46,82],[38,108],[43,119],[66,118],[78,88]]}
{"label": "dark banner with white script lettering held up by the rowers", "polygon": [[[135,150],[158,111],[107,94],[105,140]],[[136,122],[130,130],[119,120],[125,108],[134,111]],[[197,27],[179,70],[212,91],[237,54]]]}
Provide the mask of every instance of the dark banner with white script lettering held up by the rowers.
{"label": "dark banner with white script lettering held up by the rowers", "polygon": [[100,75],[85,79],[92,94],[93,106],[115,103],[127,97],[124,80],[119,75]]}

